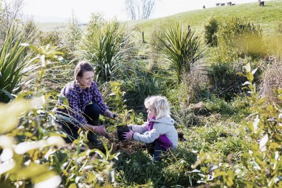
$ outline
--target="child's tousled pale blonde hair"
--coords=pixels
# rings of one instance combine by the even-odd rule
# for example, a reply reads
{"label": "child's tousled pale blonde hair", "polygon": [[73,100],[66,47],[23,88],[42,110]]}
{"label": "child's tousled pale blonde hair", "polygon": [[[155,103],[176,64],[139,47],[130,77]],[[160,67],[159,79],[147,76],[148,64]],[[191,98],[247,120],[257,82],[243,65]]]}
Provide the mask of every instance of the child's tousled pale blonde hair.
{"label": "child's tousled pale blonde hair", "polygon": [[162,96],[151,96],[147,97],[144,101],[145,107],[151,107],[156,111],[156,118],[162,118],[164,116],[169,116],[171,114],[169,102],[167,102],[166,97]]}

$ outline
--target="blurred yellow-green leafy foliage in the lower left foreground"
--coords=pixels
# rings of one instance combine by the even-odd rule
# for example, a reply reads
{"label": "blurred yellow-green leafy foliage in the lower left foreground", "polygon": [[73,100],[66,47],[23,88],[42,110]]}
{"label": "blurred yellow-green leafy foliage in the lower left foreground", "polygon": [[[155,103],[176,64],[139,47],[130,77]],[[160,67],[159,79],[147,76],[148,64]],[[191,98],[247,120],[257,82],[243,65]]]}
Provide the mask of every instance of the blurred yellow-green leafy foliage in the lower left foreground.
{"label": "blurred yellow-green leafy foliage in the lower left foreground", "polygon": [[[86,134],[80,132],[77,148],[65,148],[65,135],[57,130],[54,93],[43,92],[41,83],[47,68],[61,62],[54,47],[31,47],[40,55],[33,59],[39,67],[33,90],[24,91],[15,100],[0,105],[0,185],[4,187],[88,187],[113,182],[113,160],[105,147],[86,150]],[[45,93],[45,94],[43,94]],[[71,156],[71,157],[70,157]]]}

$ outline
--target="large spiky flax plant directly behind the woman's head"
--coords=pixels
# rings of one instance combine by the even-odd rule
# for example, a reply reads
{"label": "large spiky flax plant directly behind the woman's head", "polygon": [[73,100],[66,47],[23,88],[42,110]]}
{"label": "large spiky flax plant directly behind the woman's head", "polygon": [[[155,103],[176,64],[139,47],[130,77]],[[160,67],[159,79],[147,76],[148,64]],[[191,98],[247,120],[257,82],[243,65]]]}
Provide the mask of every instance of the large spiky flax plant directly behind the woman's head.
{"label": "large spiky flax plant directly behind the woman's head", "polygon": [[124,35],[124,26],[116,20],[99,20],[88,25],[80,52],[81,58],[93,64],[96,81],[103,83],[114,79],[120,63],[124,61],[127,37]]}

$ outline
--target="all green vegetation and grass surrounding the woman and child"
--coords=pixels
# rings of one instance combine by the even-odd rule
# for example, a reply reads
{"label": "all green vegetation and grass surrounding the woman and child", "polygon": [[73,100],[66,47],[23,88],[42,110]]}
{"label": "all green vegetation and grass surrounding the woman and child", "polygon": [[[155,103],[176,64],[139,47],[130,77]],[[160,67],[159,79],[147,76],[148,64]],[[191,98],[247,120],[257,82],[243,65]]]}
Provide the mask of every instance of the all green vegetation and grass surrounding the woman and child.
{"label": "all green vegetation and grass surrounding the woman and child", "polygon": [[[94,14],[81,34],[75,17],[63,34],[37,32],[0,8],[0,187],[282,187],[281,6],[134,23]],[[100,117],[112,125],[100,149],[88,148],[83,130],[65,144],[53,111],[80,59],[93,64],[104,101],[120,116]],[[149,95],[168,98],[179,133],[162,162],[143,143],[116,139],[116,126],[146,120]]]}

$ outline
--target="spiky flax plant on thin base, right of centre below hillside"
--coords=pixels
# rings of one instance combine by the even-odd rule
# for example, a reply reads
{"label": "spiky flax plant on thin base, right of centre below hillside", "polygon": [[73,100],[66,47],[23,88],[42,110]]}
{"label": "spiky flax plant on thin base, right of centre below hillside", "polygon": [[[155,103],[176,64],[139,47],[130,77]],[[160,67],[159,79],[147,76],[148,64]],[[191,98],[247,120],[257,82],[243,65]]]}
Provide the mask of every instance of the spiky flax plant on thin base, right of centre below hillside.
{"label": "spiky flax plant on thin base, right of centre below hillside", "polygon": [[190,27],[185,29],[180,24],[169,26],[159,40],[160,51],[171,62],[180,84],[182,74],[189,73],[191,65],[201,58],[205,49],[201,47],[200,39],[194,35]]}

